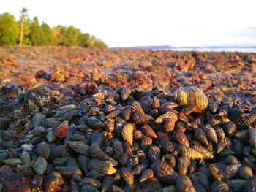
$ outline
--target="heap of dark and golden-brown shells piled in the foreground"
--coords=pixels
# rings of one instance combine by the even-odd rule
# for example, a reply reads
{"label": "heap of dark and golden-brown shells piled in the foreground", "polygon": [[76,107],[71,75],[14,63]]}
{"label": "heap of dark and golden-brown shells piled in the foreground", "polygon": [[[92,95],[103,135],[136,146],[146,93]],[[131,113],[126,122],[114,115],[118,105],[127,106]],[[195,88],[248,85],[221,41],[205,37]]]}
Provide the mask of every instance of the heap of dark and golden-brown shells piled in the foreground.
{"label": "heap of dark and golden-brown shells piled in the foreground", "polygon": [[195,86],[121,87],[32,113],[18,142],[1,130],[0,164],[31,191],[254,191],[255,120],[249,102]]}

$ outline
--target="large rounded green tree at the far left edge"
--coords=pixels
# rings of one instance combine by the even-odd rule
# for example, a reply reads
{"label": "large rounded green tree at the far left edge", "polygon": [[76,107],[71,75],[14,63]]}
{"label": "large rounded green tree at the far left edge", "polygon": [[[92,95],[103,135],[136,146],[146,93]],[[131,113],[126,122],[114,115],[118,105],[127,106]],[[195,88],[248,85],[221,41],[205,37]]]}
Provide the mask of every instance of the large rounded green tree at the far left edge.
{"label": "large rounded green tree at the far left edge", "polygon": [[0,15],[0,45],[15,45],[18,37],[18,25],[9,12]]}

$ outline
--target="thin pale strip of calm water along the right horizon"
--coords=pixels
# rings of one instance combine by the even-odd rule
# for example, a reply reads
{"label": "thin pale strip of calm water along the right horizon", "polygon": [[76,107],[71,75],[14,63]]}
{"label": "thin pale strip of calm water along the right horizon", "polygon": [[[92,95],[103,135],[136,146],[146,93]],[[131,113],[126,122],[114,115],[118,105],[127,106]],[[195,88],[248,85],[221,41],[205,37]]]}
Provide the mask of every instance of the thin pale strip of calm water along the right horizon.
{"label": "thin pale strip of calm water along the right horizon", "polygon": [[173,47],[166,50],[256,53],[256,47]]}

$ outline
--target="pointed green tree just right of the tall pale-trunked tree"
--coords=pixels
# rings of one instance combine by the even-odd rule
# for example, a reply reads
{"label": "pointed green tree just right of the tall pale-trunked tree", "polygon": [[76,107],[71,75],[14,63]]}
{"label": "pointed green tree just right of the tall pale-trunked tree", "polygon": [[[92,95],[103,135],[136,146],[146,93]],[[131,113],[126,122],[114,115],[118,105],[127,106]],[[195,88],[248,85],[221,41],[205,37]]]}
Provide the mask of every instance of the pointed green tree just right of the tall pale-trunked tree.
{"label": "pointed green tree just right of the tall pale-trunked tree", "polygon": [[46,40],[41,26],[37,17],[34,18],[30,26],[31,33],[29,34],[29,39],[32,45],[44,45]]}

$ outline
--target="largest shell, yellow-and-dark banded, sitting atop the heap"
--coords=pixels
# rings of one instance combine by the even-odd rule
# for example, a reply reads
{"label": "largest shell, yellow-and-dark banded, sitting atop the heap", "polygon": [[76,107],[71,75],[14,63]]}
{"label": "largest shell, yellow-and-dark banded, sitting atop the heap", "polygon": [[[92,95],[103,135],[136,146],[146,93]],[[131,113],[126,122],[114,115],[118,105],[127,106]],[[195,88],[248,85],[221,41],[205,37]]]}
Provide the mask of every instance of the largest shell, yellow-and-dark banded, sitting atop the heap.
{"label": "largest shell, yellow-and-dark banded, sitting atop the heap", "polygon": [[208,106],[208,99],[200,88],[190,86],[171,94],[173,101],[181,107],[197,105],[194,112],[200,113]]}

